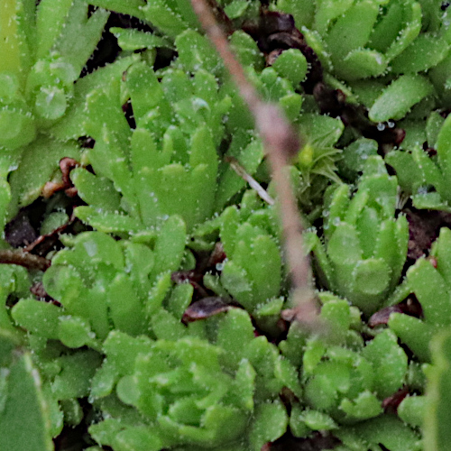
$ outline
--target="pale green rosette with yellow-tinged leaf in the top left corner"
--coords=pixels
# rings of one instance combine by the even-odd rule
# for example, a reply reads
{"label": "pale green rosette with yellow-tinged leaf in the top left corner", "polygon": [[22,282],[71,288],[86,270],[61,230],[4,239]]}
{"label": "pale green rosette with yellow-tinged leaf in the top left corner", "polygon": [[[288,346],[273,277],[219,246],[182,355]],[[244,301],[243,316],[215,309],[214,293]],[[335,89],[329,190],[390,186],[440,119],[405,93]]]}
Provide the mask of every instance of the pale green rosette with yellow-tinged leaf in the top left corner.
{"label": "pale green rosette with yellow-tinged leaf in the top left corner", "polygon": [[87,4],[81,0],[42,1],[39,6],[8,0],[5,8],[0,145],[14,151],[65,114],[73,82],[96,48],[108,14],[99,9],[87,20]]}

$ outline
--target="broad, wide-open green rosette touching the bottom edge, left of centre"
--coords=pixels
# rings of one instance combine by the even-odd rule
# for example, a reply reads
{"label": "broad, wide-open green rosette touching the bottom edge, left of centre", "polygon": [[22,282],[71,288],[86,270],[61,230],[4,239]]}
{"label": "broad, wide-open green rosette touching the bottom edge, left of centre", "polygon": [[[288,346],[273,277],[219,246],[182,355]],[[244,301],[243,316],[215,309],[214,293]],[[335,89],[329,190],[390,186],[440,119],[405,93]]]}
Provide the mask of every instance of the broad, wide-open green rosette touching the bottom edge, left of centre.
{"label": "broad, wide-open green rosette touching the bottom edge, left of centre", "polygon": [[[216,332],[209,336],[212,321]],[[224,449],[237,441],[257,451],[284,433],[288,417],[277,394],[283,386],[300,394],[294,367],[265,338],[253,336],[241,309],[206,323],[182,327],[171,338],[157,333],[156,341],[109,334],[92,386],[107,413],[90,428],[100,444],[119,450]]]}

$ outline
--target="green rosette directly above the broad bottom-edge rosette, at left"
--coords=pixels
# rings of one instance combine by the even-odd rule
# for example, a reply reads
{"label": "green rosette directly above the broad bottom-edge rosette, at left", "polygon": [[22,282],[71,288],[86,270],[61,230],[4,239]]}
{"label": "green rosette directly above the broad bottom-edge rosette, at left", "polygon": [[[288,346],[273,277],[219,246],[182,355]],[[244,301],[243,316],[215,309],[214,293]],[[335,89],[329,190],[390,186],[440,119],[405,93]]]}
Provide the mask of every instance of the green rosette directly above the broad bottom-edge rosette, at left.
{"label": "green rosette directly above the broad bottom-edge rosette, at left", "polygon": [[[99,349],[98,340],[112,328],[132,336],[149,333],[149,320],[170,290],[170,272],[179,268],[185,241],[178,216],[161,226],[152,246],[118,243],[101,232],[77,235],[43,277],[45,290],[61,308],[21,299],[13,318],[33,334],[59,339],[70,348]],[[38,317],[45,321],[37,322]]]}

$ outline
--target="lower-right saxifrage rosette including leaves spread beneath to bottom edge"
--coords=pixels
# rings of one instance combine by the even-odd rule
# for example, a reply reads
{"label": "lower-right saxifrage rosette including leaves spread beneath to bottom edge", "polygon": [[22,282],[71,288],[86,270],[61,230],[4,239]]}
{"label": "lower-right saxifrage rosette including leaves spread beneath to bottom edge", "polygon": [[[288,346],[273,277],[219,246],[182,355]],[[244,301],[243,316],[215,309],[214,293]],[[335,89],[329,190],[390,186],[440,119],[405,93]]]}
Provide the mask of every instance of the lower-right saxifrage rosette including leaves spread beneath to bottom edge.
{"label": "lower-right saxifrage rosette including leaves spread beneath to bottom edge", "polygon": [[306,437],[312,430],[332,431],[343,442],[337,449],[379,449],[379,444],[421,449],[417,434],[400,419],[381,416],[381,400],[410,384],[407,355],[396,336],[385,329],[364,344],[359,310],[331,293],[319,298],[328,339],[308,337],[294,323],[279,345],[292,364],[300,365],[305,390],[291,410],[291,433]]}

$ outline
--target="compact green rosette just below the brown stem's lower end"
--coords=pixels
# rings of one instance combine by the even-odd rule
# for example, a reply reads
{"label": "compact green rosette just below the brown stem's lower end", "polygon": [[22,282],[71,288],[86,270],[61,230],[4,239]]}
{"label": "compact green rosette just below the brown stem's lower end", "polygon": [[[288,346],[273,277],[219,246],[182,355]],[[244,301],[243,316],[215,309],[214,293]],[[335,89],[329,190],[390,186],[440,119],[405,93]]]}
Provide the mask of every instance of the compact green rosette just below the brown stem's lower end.
{"label": "compact green rosette just below the brown stem's lower end", "polygon": [[[382,413],[381,400],[399,390],[405,381],[407,356],[389,330],[365,346],[362,341],[355,342],[348,303],[327,294],[321,299],[324,305],[320,318],[331,327],[333,342],[327,344],[318,337],[306,341],[302,378],[306,401],[312,409],[309,415],[323,412],[319,418],[324,421],[327,413],[332,429],[337,428],[336,423],[352,424],[378,417]],[[284,354],[289,350],[285,345]],[[312,427],[306,419],[304,423],[308,428],[303,435],[312,428],[323,428]]]}

